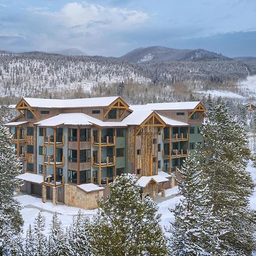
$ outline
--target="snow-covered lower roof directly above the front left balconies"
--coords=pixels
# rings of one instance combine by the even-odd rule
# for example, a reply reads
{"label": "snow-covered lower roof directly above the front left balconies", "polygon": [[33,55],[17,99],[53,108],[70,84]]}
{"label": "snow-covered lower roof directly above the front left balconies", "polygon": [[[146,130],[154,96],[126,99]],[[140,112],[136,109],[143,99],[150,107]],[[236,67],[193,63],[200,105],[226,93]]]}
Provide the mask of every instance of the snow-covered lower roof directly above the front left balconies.
{"label": "snow-covered lower roof directly above the front left balconies", "polygon": [[97,118],[90,117],[83,113],[66,113],[55,115],[35,123],[35,125],[43,127],[53,127],[60,125],[97,125],[101,127],[124,127],[122,122],[102,122]]}

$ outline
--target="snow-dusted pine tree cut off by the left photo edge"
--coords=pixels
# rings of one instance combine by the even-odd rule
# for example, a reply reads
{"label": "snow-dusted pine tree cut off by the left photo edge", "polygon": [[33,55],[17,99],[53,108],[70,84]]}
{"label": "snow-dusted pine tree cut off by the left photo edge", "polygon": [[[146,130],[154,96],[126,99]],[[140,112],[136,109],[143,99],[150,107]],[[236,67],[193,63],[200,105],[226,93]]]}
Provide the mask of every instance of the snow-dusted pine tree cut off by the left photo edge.
{"label": "snow-dusted pine tree cut off by the left photo edge", "polygon": [[0,125],[0,255],[10,244],[11,238],[19,234],[23,225],[20,204],[14,199],[19,186],[16,178],[19,163],[14,148],[10,146],[10,139],[9,131]]}

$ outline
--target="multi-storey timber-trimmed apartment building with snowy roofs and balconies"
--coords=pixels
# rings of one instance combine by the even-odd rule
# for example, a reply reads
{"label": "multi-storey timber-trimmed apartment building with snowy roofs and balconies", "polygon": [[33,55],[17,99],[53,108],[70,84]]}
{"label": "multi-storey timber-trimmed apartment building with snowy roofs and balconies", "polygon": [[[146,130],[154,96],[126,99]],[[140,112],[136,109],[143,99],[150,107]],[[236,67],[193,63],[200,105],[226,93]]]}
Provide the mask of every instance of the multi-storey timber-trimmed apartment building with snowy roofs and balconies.
{"label": "multi-storey timber-trimmed apartment building with snowy roofs and balconies", "polygon": [[22,98],[6,126],[21,162],[21,191],[84,209],[97,208],[115,177],[138,176],[142,199],[175,185],[197,143],[201,102],[129,105],[121,97]]}

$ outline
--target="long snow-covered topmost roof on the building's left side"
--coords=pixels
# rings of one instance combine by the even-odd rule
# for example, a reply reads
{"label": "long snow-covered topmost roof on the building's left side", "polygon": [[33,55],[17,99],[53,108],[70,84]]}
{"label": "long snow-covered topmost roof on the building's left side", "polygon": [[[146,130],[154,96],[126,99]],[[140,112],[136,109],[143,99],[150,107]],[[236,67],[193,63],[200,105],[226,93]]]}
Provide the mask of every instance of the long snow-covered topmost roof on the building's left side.
{"label": "long snow-covered topmost roof on the building's left side", "polygon": [[109,106],[110,104],[112,104],[113,101],[117,100],[117,98],[118,96],[76,98],[69,100],[57,100],[51,98],[24,98],[24,100],[32,108],[86,108]]}

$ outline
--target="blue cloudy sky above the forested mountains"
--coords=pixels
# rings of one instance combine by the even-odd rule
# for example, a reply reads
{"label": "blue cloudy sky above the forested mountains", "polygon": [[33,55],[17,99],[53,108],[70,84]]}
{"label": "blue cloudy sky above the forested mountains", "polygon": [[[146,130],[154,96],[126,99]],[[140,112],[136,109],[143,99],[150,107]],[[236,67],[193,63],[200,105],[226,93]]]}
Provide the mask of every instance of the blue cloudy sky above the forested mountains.
{"label": "blue cloudy sky above the forested mountains", "polygon": [[0,0],[0,50],[121,56],[148,46],[256,56],[256,0]]}

